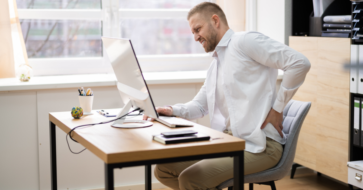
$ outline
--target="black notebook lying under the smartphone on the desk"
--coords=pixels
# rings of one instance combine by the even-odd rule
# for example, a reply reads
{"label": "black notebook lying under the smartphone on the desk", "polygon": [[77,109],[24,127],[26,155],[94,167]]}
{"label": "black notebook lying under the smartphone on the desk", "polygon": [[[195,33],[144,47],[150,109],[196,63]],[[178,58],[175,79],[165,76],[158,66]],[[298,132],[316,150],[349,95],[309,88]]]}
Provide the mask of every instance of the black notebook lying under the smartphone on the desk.
{"label": "black notebook lying under the smartphone on the desk", "polygon": [[209,140],[210,137],[203,133],[196,133],[196,134],[178,135],[178,136],[154,135],[152,139],[163,144],[173,144],[173,143],[186,143],[186,142],[194,142],[201,140]]}

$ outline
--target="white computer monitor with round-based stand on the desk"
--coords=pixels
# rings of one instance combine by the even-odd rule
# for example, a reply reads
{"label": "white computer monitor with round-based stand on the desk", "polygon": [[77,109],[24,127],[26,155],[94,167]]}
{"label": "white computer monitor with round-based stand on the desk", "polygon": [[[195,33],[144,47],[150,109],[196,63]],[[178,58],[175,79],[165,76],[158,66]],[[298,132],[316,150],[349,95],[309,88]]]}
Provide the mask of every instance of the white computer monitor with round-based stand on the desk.
{"label": "white computer monitor with round-based stand on the desk", "polygon": [[[158,118],[130,39],[101,38],[117,78],[117,88],[125,104],[117,117],[129,113],[131,107],[134,109],[139,107],[148,117]],[[127,122],[140,124],[125,125],[123,124],[126,123],[125,119],[118,119],[111,126],[135,128],[152,125],[152,122],[144,120],[127,120]]]}

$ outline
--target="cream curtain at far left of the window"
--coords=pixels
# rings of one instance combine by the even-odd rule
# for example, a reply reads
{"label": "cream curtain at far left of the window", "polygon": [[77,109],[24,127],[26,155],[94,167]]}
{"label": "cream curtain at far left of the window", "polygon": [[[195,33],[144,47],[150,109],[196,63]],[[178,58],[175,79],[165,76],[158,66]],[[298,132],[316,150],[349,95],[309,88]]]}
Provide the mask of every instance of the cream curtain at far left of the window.
{"label": "cream curtain at far left of the window", "polygon": [[15,0],[0,0],[0,78],[15,77],[16,68],[28,64]]}

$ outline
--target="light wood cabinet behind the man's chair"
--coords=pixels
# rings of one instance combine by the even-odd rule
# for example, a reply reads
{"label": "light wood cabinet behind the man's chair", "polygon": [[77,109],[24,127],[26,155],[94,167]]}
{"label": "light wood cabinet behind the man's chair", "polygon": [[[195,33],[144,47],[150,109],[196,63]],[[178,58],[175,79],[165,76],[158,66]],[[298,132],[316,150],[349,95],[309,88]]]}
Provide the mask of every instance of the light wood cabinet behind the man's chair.
{"label": "light wood cabinet behind the man's chair", "polygon": [[347,183],[350,38],[289,37],[311,68],[294,100],[310,101],[295,163]]}

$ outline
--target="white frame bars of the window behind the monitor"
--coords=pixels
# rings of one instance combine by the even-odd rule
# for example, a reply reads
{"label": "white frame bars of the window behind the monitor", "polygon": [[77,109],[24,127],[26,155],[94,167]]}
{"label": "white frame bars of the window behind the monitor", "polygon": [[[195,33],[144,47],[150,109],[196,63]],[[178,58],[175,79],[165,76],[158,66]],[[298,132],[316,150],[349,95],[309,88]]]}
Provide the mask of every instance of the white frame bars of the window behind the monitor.
{"label": "white frame bars of the window behind the monitor", "polygon": [[[99,20],[102,36],[121,38],[125,18],[185,18],[189,9],[121,9],[118,0],[101,0],[101,9],[18,9],[19,19]],[[192,33],[191,33],[192,35]],[[196,42],[197,43],[197,42]],[[29,58],[34,76],[113,73],[102,45],[102,57]],[[210,53],[137,56],[143,72],[207,70]]]}

